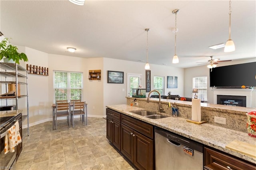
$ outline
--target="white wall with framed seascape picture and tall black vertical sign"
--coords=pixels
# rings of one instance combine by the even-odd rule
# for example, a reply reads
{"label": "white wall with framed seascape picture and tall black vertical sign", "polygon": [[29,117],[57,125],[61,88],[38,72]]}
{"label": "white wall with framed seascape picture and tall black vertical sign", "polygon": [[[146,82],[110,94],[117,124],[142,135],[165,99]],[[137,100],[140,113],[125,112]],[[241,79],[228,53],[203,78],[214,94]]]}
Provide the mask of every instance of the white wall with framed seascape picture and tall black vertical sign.
{"label": "white wall with framed seascape picture and tall black vertical sign", "polygon": [[[142,74],[142,88],[146,88],[146,70],[144,69],[145,63],[125,61],[118,59],[104,58],[104,115],[106,115],[106,105],[116,105],[116,104],[126,104],[127,96],[127,73]],[[113,84],[107,83],[107,71],[124,71],[124,84]],[[184,89],[184,69],[167,67],[161,65],[150,64],[151,70],[151,90],[154,89],[154,76],[164,76],[165,77],[165,94],[169,91],[172,94],[183,95]],[[177,89],[167,89],[167,76],[177,76],[178,77],[178,88]],[[124,91],[123,91],[124,89]],[[148,93],[146,94],[148,95]]]}

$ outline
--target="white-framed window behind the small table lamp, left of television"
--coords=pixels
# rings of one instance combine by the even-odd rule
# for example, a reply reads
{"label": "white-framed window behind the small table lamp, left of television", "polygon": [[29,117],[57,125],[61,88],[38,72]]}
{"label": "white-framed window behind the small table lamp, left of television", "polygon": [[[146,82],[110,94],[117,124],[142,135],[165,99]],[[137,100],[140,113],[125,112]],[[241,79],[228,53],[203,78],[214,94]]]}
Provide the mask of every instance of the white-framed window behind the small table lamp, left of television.
{"label": "white-framed window behind the small table lamp, left of television", "polygon": [[201,99],[202,101],[207,101],[207,77],[194,77],[193,89],[194,88],[198,89],[198,99]]}

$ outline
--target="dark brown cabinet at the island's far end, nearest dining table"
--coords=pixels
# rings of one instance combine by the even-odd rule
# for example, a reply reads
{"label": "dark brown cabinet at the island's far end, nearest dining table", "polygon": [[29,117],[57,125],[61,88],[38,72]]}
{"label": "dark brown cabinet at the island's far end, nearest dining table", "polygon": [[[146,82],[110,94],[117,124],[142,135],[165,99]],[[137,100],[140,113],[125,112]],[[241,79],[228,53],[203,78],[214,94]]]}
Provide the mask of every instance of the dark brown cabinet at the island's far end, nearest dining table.
{"label": "dark brown cabinet at the island's far end, nearest dining table", "polygon": [[120,113],[107,109],[106,115],[107,115],[106,137],[118,150],[120,150],[120,147],[121,147]]}

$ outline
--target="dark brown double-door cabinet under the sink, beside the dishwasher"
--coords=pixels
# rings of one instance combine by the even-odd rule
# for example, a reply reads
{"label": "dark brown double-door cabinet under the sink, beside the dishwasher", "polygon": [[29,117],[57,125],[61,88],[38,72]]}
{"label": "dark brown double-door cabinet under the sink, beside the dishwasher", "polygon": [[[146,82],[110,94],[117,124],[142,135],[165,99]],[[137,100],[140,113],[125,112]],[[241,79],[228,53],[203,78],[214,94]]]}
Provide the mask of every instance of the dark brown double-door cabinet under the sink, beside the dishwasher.
{"label": "dark brown double-door cabinet under the sink, beside the dishwasher", "polygon": [[154,140],[147,136],[153,138],[152,125],[121,115],[121,153],[142,170],[154,169]]}

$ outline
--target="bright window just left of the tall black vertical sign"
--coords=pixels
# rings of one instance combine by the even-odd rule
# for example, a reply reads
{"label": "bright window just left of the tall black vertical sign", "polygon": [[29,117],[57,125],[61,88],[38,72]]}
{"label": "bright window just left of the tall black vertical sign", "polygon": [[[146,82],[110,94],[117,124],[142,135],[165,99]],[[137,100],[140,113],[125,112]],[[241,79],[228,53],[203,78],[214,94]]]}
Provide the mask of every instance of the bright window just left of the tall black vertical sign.
{"label": "bright window just left of the tall black vertical sign", "polygon": [[141,85],[141,74],[127,74],[128,96],[132,96],[132,89],[138,89]]}

